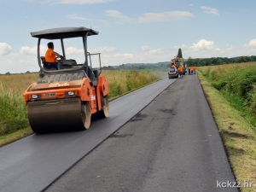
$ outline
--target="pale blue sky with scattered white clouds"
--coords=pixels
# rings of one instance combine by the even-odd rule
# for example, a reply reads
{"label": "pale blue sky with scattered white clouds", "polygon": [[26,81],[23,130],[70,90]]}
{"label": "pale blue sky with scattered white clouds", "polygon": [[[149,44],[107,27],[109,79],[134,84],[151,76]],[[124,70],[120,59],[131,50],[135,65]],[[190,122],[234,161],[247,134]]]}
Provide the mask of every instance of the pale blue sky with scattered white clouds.
{"label": "pale blue sky with scattered white clouds", "polygon": [[[185,59],[256,55],[255,8],[255,0],[1,0],[0,73],[37,72],[30,32],[58,27],[99,32],[88,49],[101,53],[102,66],[171,61],[179,48]],[[42,40],[41,55],[48,43]],[[84,62],[80,38],[64,45],[67,59]]]}

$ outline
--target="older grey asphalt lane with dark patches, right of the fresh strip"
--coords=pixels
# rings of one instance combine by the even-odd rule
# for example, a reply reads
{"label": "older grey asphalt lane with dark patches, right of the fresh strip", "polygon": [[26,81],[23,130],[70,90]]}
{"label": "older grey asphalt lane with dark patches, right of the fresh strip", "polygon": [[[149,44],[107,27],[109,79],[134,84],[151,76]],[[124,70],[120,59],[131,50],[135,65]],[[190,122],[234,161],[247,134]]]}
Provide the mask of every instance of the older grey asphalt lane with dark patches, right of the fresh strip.
{"label": "older grey asphalt lane with dark patches, right of the fresh strip", "polygon": [[46,191],[238,191],[217,188],[233,181],[199,79],[186,75]]}

